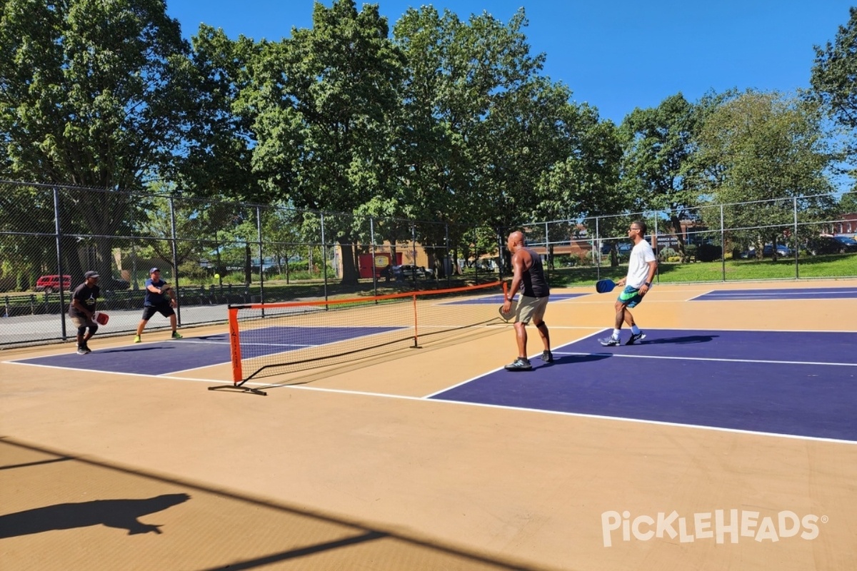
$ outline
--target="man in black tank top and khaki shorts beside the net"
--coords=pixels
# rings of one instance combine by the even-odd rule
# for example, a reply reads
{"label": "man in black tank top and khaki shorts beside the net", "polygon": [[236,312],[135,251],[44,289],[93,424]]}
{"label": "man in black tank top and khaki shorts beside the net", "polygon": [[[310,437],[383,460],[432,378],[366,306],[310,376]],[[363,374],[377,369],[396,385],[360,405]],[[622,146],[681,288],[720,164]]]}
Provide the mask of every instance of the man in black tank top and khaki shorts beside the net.
{"label": "man in black tank top and khaki shorts beside the net", "polygon": [[544,278],[542,258],[538,253],[524,247],[524,234],[512,232],[506,244],[512,253],[512,287],[506,294],[503,311],[508,312],[512,307],[515,293],[521,292],[518,301],[518,314],[515,316],[515,340],[518,342],[518,359],[506,365],[507,371],[530,371],[532,365],[527,357],[527,324],[532,321],[536,325],[539,336],[542,337],[544,351],[542,360],[552,363],[554,355],[550,352],[550,335],[548,325],[544,323],[544,311],[548,306],[548,281]]}

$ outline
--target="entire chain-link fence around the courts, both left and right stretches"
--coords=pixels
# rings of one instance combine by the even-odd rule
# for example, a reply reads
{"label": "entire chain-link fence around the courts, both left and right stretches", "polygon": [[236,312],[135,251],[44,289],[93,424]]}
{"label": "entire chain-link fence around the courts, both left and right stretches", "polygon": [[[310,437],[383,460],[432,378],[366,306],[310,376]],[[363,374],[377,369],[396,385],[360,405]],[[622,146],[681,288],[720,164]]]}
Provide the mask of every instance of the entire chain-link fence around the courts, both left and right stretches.
{"label": "entire chain-link fence around the courts, both left and right stretches", "polygon": [[[851,203],[857,200],[851,200]],[[710,280],[740,278],[729,259],[788,259],[782,277],[806,277],[828,253],[851,251],[857,213],[829,195],[707,205],[521,226],[548,279],[626,264],[632,220],[670,264],[719,262]],[[149,270],[177,288],[182,325],[225,320],[230,303],[327,299],[484,283],[509,273],[508,229],[305,211],[282,205],[190,199],[0,181],[0,348],[75,336],[71,291],[98,271],[110,312],[100,335],[129,334]],[[836,235],[836,238],[833,236]],[[830,242],[831,240],[836,243]],[[857,275],[853,264],[829,277]],[[781,263],[782,267],[782,263]],[[838,268],[838,269],[836,269]],[[587,275],[590,275],[587,274]],[[572,279],[573,281],[573,279]],[[149,329],[158,322],[153,318]]]}

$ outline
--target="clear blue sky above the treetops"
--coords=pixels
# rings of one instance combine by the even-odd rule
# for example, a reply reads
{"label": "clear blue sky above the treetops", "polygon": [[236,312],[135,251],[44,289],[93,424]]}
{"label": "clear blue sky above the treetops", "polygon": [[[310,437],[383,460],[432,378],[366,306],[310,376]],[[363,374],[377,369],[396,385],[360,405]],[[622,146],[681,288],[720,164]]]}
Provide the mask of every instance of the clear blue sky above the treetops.
{"label": "clear blue sky above the treetops", "polygon": [[[523,7],[531,52],[572,99],[617,124],[634,108],[682,92],[696,101],[732,87],[794,92],[809,86],[813,45],[833,41],[851,0],[379,0],[391,28],[409,7],[433,4],[462,20],[488,11],[507,22]],[[322,2],[327,7],[333,0]],[[363,5],[357,0],[358,8]],[[200,23],[232,39],[279,40],[312,27],[312,0],[167,0],[185,37]]]}

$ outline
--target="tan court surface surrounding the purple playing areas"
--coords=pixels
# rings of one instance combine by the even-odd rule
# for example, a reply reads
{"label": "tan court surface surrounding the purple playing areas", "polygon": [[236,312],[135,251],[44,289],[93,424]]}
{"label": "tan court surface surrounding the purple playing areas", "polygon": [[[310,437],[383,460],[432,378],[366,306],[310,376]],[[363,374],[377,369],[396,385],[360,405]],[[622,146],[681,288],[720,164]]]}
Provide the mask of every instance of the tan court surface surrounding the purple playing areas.
{"label": "tan court surface surrounding the purple playing areas", "polygon": [[[772,285],[857,282],[661,285],[634,315],[644,329],[844,326],[857,339],[857,299],[687,301]],[[605,329],[612,300],[552,302],[554,346]],[[538,345],[530,328],[530,354]],[[72,349],[0,352],[3,571],[857,569],[855,443],[424,398],[512,360],[511,325],[296,373],[267,396],[207,390],[224,366],[146,377],[9,363]],[[750,518],[749,534],[688,538],[719,510]],[[624,512],[631,539],[605,546],[603,518]],[[634,536],[638,516],[672,512],[676,537]],[[788,537],[781,513],[818,517],[818,532]]]}

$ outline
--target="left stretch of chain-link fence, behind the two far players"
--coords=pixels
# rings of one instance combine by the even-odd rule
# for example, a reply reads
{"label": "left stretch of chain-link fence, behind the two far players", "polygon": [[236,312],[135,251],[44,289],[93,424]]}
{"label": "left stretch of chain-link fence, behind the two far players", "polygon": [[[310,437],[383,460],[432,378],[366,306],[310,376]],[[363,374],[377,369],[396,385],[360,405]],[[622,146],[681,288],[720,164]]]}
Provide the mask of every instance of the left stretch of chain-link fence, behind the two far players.
{"label": "left stretch of chain-link fence, behind the two far players", "polygon": [[74,337],[65,312],[90,270],[109,335],[135,330],[153,267],[177,289],[179,323],[207,324],[229,303],[497,279],[478,243],[447,223],[2,181],[0,347]]}

